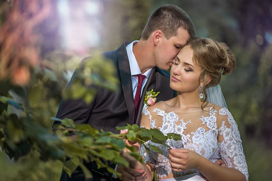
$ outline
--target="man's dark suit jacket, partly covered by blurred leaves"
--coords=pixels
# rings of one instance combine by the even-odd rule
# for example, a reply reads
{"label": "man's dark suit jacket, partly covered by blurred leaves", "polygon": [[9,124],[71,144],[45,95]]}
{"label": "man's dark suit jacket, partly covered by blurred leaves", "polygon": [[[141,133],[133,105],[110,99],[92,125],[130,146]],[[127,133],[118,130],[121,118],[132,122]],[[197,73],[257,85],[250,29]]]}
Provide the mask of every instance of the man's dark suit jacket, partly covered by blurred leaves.
{"label": "man's dark suit jacket, partly covered by blurred leaves", "polygon": [[[126,52],[126,46],[129,42],[123,43],[117,50],[103,53],[103,55],[110,59],[117,69],[117,78],[119,78],[120,91],[112,92],[110,90],[97,87],[97,96],[93,102],[87,105],[83,100],[61,100],[57,112],[57,118],[71,118],[75,123],[90,124],[94,128],[104,131],[116,131],[116,126],[125,126],[133,124],[134,119],[134,100],[131,83],[131,73],[129,68],[129,60]],[[84,60],[80,63],[82,67]],[[80,66],[77,71],[80,71]],[[74,73],[74,74],[75,74]],[[136,117],[136,124],[140,125],[141,112],[144,103],[144,96],[146,91],[154,89],[155,92],[160,92],[157,96],[157,102],[162,100],[169,100],[176,96],[174,90],[169,87],[169,72],[161,70],[157,67],[152,68],[151,74],[143,88],[143,94],[140,98],[138,113]],[[71,78],[71,84],[73,77]],[[90,180],[111,180],[112,173],[107,172],[106,169],[97,169],[95,163],[86,164],[93,174]],[[115,164],[110,165],[115,167]],[[63,171],[61,180],[69,181],[84,181],[84,174],[80,168],[72,174],[72,178]],[[114,179],[113,179],[114,180]]]}

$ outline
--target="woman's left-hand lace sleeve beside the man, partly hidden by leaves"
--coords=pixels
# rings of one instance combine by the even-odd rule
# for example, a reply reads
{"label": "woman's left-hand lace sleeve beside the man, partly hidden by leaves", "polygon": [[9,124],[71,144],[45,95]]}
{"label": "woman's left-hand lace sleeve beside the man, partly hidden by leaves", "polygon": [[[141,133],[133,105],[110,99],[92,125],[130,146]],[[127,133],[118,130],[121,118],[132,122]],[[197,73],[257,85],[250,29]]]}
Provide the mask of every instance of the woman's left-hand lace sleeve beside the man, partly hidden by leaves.
{"label": "woman's left-hand lace sleeve beside the man, partly hidden by leaves", "polygon": [[[152,116],[150,114],[149,108],[144,109],[140,126],[146,129],[150,129],[150,128],[156,128],[155,124],[156,124],[156,120],[153,120],[153,124],[152,124]],[[147,145],[148,142],[149,141],[146,141],[144,144]],[[140,155],[144,157],[144,162],[148,161],[149,163],[152,163],[153,165],[155,165],[154,158],[152,157],[150,153],[146,152],[146,148],[144,147],[143,144],[141,145]]]}

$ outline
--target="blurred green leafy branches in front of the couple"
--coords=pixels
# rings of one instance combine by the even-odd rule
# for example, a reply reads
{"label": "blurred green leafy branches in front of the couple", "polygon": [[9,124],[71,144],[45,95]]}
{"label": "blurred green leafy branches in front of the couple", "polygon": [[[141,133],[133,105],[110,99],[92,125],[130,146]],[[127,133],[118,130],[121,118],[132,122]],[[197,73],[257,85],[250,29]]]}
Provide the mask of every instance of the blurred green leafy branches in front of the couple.
{"label": "blurred green leafy branches in front of the couple", "polygon": [[[107,62],[105,66],[102,61],[98,61],[101,59],[104,58],[94,56],[85,62],[83,70],[74,75],[73,81],[65,89],[63,94],[65,98],[83,99],[86,103],[90,103],[96,93],[93,91],[93,85],[117,90],[118,81],[115,78],[116,71],[113,65],[105,60]],[[181,139],[180,135],[165,136],[158,129],[148,130],[139,128],[138,125],[117,127],[118,130],[128,129],[128,133],[114,134],[94,129],[89,124],[74,124],[72,119],[61,120],[54,117],[51,119],[59,124],[51,128],[51,125],[44,123],[48,122],[46,119],[50,119],[48,113],[52,113],[51,103],[57,102],[55,99],[58,97],[54,91],[60,89],[52,87],[56,86],[64,75],[57,75],[51,69],[42,71],[37,68],[33,72],[35,77],[33,76],[29,87],[14,86],[8,84],[6,80],[3,83],[10,86],[6,86],[6,89],[1,91],[0,149],[15,160],[15,163],[21,157],[32,154],[33,151],[39,154],[39,159],[43,161],[64,162],[65,158],[69,157],[63,167],[68,175],[71,176],[79,166],[85,177],[90,178],[91,173],[84,162],[95,161],[99,168],[106,167],[111,173],[114,170],[108,166],[110,162],[128,167],[128,161],[121,154],[124,148],[128,148],[129,154],[143,163],[136,148],[126,145],[124,139],[137,140],[140,144],[152,140],[166,147],[169,147],[165,144],[168,138]],[[159,148],[152,145],[149,147],[161,153]],[[149,150],[148,147],[146,148]],[[120,173],[117,174],[121,176]]]}

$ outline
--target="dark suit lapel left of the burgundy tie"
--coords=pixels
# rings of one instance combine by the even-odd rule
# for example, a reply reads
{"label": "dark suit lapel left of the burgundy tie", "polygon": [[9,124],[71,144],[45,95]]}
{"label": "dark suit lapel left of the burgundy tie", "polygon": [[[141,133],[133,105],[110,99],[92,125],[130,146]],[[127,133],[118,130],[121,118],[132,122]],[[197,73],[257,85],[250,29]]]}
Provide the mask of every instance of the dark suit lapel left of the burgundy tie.
{"label": "dark suit lapel left of the burgundy tie", "polygon": [[135,104],[133,100],[129,59],[127,57],[127,52],[126,52],[126,45],[128,44],[129,42],[125,42],[123,43],[122,46],[120,46],[120,48],[117,49],[117,59],[118,59],[118,65],[120,69],[120,77],[121,77],[123,93],[126,100],[127,110],[129,112],[129,122],[130,124],[133,124]]}

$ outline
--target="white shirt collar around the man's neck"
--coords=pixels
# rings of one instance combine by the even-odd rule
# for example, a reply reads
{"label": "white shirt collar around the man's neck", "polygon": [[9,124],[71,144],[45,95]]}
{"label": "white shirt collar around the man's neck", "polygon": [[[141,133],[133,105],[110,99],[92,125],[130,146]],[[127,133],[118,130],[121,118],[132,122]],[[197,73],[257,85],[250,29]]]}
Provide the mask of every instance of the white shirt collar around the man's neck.
{"label": "white shirt collar around the man's neck", "polygon": [[[138,62],[133,53],[133,45],[136,44],[138,41],[139,40],[135,40],[126,46],[126,52],[129,59],[129,67],[130,67],[131,76],[142,74],[139,68]],[[152,68],[148,69],[145,73],[143,73],[143,75],[145,75],[148,78],[151,71],[152,71]]]}

